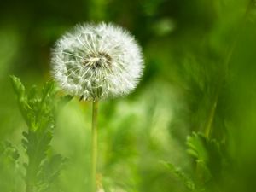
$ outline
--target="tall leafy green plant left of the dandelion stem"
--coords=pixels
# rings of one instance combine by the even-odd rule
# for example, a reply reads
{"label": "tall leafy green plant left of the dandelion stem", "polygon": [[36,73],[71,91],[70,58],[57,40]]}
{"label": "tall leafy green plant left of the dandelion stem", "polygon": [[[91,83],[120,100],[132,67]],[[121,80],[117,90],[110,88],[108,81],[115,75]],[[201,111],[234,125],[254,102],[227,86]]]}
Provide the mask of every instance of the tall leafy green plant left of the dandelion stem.
{"label": "tall leafy green plant left of the dandelion stem", "polygon": [[65,158],[51,152],[50,142],[55,130],[55,85],[44,84],[41,94],[33,86],[26,94],[24,85],[15,76],[10,77],[18,104],[28,131],[22,133],[22,146],[26,150],[26,191],[49,191],[59,175]]}

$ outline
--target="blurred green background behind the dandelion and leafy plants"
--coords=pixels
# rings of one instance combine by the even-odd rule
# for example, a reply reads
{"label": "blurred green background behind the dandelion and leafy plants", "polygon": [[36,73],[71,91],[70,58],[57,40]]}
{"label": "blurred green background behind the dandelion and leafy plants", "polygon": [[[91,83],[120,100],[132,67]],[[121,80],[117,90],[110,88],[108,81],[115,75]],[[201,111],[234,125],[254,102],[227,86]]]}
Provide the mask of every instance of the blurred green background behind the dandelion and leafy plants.
{"label": "blurred green background behind the dandelion and leafy plants", "polygon": [[[191,191],[190,178],[194,191],[255,191],[255,1],[2,2],[0,140],[24,152],[21,132],[27,128],[9,74],[26,87],[41,86],[52,79],[50,49],[56,39],[79,22],[102,20],[131,31],[145,58],[137,90],[100,103],[98,171],[105,191]],[[90,107],[74,98],[58,115],[52,146],[68,164],[53,191],[86,191]],[[224,151],[224,166],[212,166],[209,181],[201,182],[200,160],[187,153],[193,131],[218,141]],[[24,191],[21,179],[12,167],[0,166],[1,192]]]}

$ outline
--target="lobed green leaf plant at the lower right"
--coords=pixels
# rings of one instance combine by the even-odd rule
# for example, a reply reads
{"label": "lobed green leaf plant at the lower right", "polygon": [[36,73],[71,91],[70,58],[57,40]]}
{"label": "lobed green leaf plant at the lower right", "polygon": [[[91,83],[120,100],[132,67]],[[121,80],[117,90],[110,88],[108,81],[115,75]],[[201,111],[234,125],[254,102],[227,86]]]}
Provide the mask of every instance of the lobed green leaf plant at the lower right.
{"label": "lobed green leaf plant at the lower right", "polygon": [[[189,189],[189,191],[215,191],[221,188],[224,172],[229,168],[225,146],[215,139],[209,139],[202,133],[193,133],[187,137],[187,152],[195,160],[192,169],[193,178],[172,163],[164,165]],[[218,187],[217,187],[218,186]]]}

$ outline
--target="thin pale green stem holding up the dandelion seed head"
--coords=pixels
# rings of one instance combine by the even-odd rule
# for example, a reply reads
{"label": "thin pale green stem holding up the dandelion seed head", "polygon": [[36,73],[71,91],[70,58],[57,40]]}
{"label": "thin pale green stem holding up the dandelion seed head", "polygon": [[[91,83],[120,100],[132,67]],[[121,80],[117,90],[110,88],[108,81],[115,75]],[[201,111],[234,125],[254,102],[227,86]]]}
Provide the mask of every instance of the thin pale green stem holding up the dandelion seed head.
{"label": "thin pale green stem holding up the dandelion seed head", "polygon": [[91,124],[91,192],[96,192],[96,164],[97,164],[97,115],[98,101],[92,102]]}

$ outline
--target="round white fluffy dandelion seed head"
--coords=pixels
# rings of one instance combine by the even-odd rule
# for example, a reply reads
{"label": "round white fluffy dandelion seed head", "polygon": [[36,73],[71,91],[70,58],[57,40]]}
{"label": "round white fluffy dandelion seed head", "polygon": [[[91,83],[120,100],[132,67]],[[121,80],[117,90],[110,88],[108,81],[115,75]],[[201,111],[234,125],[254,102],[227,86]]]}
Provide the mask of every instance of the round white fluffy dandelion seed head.
{"label": "round white fluffy dandelion seed head", "polygon": [[84,100],[123,96],[142,76],[141,48],[113,24],[84,24],[67,32],[52,50],[52,73],[63,90]]}

